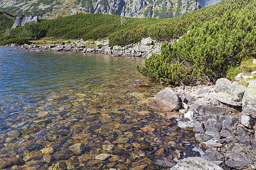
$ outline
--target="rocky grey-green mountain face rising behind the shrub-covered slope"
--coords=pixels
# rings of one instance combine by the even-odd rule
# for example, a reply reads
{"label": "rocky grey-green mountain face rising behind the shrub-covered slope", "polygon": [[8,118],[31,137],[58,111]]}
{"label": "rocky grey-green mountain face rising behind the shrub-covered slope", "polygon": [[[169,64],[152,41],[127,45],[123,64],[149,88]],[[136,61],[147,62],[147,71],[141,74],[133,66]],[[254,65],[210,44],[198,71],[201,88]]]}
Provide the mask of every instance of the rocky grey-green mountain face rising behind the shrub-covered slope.
{"label": "rocky grey-green mountain face rising behind the shrub-covered slope", "polygon": [[1,0],[0,10],[15,15],[57,18],[80,13],[172,18],[220,0]]}

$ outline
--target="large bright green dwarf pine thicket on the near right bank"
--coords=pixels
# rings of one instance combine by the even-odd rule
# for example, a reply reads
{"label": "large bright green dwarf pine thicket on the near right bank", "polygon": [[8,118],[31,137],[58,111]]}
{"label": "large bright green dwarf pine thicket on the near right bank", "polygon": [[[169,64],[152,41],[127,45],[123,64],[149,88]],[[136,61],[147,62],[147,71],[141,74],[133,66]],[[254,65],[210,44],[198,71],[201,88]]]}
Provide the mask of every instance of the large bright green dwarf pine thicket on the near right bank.
{"label": "large bright green dwarf pine thicket on the near right bank", "polygon": [[255,57],[256,2],[229,0],[205,11],[216,7],[220,10],[201,15],[201,20],[189,25],[189,32],[179,41],[165,42],[161,54],[152,55],[143,67],[138,66],[139,72],[173,85],[214,82],[240,66],[242,59]]}

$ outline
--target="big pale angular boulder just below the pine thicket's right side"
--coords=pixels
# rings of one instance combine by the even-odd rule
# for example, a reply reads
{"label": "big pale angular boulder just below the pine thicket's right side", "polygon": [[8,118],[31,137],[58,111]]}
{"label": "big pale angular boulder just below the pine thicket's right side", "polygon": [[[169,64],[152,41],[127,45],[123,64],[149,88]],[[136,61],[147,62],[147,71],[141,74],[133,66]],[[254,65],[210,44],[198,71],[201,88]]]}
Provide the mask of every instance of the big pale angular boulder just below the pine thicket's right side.
{"label": "big pale angular boulder just below the pine thicket's right side", "polygon": [[228,79],[221,78],[216,82],[213,97],[222,103],[241,107],[245,90],[245,86],[232,84]]}

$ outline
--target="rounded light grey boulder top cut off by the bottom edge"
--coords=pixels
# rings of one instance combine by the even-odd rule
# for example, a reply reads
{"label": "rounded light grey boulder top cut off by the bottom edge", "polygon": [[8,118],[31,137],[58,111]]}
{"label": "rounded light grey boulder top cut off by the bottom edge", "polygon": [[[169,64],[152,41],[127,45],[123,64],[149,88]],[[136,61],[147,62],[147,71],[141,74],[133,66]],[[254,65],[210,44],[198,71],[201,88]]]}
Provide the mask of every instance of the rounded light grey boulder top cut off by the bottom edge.
{"label": "rounded light grey boulder top cut off by the bottom edge", "polygon": [[170,170],[223,170],[223,168],[219,167],[218,165],[209,162],[208,160],[204,160],[203,158],[199,157],[189,157],[181,160],[177,163],[174,167]]}

